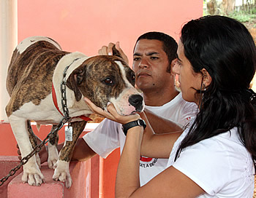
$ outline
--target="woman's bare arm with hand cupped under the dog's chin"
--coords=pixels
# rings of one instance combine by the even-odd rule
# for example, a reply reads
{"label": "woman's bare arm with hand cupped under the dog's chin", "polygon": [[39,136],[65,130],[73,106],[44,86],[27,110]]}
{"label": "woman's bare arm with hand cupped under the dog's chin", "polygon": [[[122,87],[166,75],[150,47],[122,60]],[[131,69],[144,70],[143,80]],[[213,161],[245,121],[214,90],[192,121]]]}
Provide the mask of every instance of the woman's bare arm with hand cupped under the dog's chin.
{"label": "woman's bare arm with hand cupped under the dog's chin", "polygon": [[[92,111],[126,124],[140,118],[138,114],[120,116],[113,104],[108,106],[108,112],[102,110],[85,98]],[[146,120],[148,122],[148,120]],[[197,197],[203,194],[203,189],[186,175],[168,167],[145,186],[140,187],[140,146],[143,138],[143,127],[132,127],[127,132],[124,150],[121,154],[116,175],[116,197]],[[164,143],[162,143],[164,144]]]}

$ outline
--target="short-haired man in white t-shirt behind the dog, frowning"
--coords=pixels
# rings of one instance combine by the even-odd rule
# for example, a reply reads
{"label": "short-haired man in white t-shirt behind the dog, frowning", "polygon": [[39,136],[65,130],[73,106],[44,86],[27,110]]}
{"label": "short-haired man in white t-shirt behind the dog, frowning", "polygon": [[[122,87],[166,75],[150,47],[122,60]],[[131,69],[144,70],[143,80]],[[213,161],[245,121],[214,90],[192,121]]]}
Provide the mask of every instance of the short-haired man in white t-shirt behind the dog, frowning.
{"label": "short-haired man in white t-shirt behind the dog, frowning", "polygon": [[[102,47],[99,55],[111,55],[113,45]],[[183,100],[175,87],[172,68],[177,47],[176,41],[167,34],[148,32],[138,38],[134,48],[132,68],[136,85],[143,92],[146,116],[154,132],[158,133],[170,132],[169,126],[173,122],[179,125],[176,130],[181,130],[196,113],[195,104]],[[118,43],[116,48],[128,61]],[[121,124],[105,119],[95,130],[78,139],[72,160],[85,161],[96,154],[108,157],[118,147],[122,151],[125,138]],[[47,161],[47,152],[40,152],[40,158],[41,162]],[[165,170],[166,165],[167,159],[140,157],[140,185]]]}

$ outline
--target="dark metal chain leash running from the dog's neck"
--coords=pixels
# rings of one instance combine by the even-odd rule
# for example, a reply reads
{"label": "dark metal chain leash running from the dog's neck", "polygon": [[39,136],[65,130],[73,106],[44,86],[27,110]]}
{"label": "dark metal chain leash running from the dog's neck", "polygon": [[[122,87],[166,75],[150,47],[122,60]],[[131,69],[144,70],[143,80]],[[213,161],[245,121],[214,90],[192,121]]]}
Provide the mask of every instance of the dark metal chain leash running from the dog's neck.
{"label": "dark metal chain leash running from the dog's neck", "polygon": [[[78,60],[78,58],[76,58],[75,60]],[[75,60],[73,60],[72,63],[74,63]],[[69,66],[71,66],[72,63],[70,63]],[[18,166],[12,168],[12,170],[10,170],[10,172],[4,178],[0,179],[0,186],[2,186],[4,182],[7,181],[8,178],[10,178],[10,176],[15,175],[15,173],[20,169],[20,167],[22,165],[25,165],[26,162],[28,162],[29,159],[33,157],[34,154],[38,153],[41,150],[42,146],[48,143],[50,136],[53,135],[54,132],[61,130],[61,127],[63,127],[65,123],[71,121],[71,118],[69,117],[69,109],[67,108],[67,94],[66,94],[66,76],[67,76],[67,69],[69,68],[69,66],[67,66],[64,69],[63,80],[61,83],[61,105],[64,111],[64,117],[61,119],[61,122],[59,122],[57,127],[53,131],[49,132],[49,134],[46,136],[44,140],[42,140],[41,143],[39,143],[37,146],[34,147],[33,151],[31,151],[30,154],[20,159],[20,164]]]}

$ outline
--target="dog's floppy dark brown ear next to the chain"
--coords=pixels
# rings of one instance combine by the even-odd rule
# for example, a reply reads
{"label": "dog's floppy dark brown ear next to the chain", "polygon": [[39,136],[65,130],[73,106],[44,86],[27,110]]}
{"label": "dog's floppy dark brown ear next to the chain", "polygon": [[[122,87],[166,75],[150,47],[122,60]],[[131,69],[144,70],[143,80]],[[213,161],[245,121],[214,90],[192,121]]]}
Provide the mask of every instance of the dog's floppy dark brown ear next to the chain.
{"label": "dog's floppy dark brown ear next to the chain", "polygon": [[75,100],[79,101],[82,98],[82,93],[80,92],[78,85],[83,82],[85,69],[78,68],[70,74],[69,78],[67,79],[67,87],[70,90],[75,92]]}

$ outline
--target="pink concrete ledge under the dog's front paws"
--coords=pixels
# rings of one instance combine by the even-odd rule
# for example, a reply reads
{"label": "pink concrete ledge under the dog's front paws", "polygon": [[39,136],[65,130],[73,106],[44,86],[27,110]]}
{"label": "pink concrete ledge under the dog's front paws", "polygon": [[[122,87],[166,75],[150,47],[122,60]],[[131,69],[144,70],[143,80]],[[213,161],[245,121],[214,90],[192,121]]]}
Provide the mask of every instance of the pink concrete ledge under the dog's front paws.
{"label": "pink concrete ledge under the dog's front paws", "polygon": [[41,167],[42,174],[45,176],[45,183],[42,186],[29,186],[28,183],[22,183],[20,173],[10,181],[7,189],[8,198],[61,198],[61,197],[91,197],[89,188],[91,180],[91,160],[86,162],[70,162],[70,175],[72,177],[72,186],[67,189],[64,183],[53,181],[53,170],[48,168],[47,163]]}

